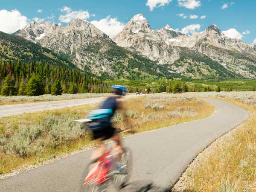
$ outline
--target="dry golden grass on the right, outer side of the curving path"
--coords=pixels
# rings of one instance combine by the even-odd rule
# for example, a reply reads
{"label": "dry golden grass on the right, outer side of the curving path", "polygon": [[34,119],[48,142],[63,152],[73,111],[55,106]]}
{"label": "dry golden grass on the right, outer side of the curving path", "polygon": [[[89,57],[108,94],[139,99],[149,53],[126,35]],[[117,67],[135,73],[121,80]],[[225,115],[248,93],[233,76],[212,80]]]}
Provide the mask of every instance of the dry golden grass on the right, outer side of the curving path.
{"label": "dry golden grass on the right, outer side of the curving path", "polygon": [[[189,94],[188,94],[189,95]],[[256,191],[256,94],[201,93],[250,111],[250,118],[206,148],[176,183],[173,192]]]}

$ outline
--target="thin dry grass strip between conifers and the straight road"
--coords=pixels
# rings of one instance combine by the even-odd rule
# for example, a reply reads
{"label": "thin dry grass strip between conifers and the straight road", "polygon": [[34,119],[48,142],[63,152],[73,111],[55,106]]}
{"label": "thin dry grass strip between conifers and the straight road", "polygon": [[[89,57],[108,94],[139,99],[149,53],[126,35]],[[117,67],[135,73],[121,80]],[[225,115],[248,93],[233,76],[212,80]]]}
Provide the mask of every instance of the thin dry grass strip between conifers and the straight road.
{"label": "thin dry grass strip between conifers and the straight road", "polygon": [[0,105],[15,105],[21,103],[60,101],[69,99],[86,99],[93,97],[109,96],[109,93],[77,93],[52,96],[51,94],[41,96],[0,96]]}

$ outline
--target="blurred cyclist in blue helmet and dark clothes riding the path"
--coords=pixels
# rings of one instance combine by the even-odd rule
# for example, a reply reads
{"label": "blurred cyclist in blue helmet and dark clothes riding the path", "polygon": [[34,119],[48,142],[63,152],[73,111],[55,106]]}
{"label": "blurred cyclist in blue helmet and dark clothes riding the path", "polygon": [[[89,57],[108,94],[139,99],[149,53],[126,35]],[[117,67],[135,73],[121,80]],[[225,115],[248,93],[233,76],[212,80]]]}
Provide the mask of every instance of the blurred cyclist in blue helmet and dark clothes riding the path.
{"label": "blurred cyclist in blue helmet and dark clothes riding the path", "polygon": [[[108,97],[108,99],[103,102],[103,105],[101,106],[101,110],[104,111],[103,113],[107,113],[106,110],[110,111],[108,115],[103,116],[102,118],[97,119],[97,122],[99,122],[99,128],[92,129],[93,131],[93,139],[99,140],[100,142],[104,140],[111,139],[114,142],[116,142],[116,150],[119,151],[119,154],[122,154],[122,143],[121,143],[121,137],[116,128],[113,128],[111,119],[114,116],[114,113],[117,109],[123,110],[123,103],[122,103],[122,96],[124,92],[126,91],[126,88],[124,86],[120,85],[113,85],[111,86],[111,92],[113,93],[113,96]],[[125,114],[125,113],[124,113]],[[125,117],[125,115],[124,115]],[[125,118],[124,120],[126,120]],[[102,143],[101,143],[102,144]],[[97,148],[91,157],[91,165],[98,160],[102,154],[105,151],[105,145],[101,145],[99,148]],[[90,169],[90,167],[89,167]]]}

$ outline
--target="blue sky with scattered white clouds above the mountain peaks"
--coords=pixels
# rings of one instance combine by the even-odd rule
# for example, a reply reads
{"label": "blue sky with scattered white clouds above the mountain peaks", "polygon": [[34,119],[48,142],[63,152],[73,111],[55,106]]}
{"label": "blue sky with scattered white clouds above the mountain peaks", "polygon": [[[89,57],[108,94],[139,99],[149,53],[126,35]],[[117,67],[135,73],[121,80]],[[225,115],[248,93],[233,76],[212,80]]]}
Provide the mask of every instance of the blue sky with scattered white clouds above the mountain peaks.
{"label": "blue sky with scattered white clouds above the mountain peaks", "polygon": [[[143,13],[152,29],[169,24],[173,29],[182,30],[189,26],[189,29],[200,32],[210,24],[216,24],[227,36],[250,44],[255,40],[256,43],[255,0],[0,1],[0,31],[8,33],[32,20],[67,25],[73,19],[81,18],[92,22],[108,35],[114,35],[131,17]],[[191,27],[192,24],[197,24],[197,27]]]}

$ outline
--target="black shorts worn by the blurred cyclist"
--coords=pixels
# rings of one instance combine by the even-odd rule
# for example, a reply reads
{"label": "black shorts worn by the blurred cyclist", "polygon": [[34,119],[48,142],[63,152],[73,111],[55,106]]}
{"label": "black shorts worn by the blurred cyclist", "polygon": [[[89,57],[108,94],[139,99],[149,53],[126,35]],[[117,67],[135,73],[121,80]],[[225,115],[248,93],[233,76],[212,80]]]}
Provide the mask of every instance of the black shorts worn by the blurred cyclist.
{"label": "black shorts worn by the blurred cyclist", "polygon": [[102,139],[108,140],[109,138],[113,137],[116,133],[116,129],[111,126],[110,122],[102,122],[102,128],[93,130],[93,139]]}

